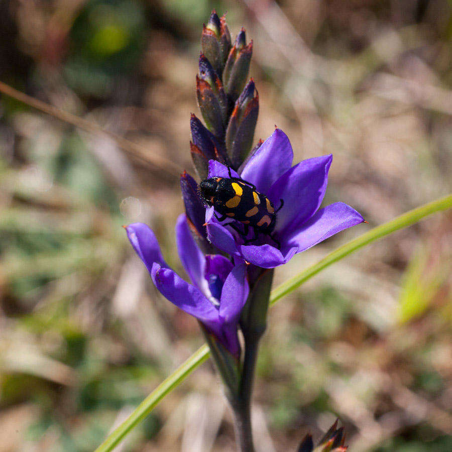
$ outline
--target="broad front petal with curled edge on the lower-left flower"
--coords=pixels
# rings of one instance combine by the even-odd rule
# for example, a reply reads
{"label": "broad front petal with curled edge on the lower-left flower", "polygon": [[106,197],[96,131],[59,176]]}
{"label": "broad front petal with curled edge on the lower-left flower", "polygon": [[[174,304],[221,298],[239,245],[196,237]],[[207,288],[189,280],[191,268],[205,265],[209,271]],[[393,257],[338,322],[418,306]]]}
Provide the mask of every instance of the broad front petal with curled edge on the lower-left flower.
{"label": "broad front petal with curled edge on the lower-left flower", "polygon": [[173,270],[155,263],[151,272],[152,280],[159,292],[185,311],[218,332],[220,320],[217,309],[197,289],[185,282]]}

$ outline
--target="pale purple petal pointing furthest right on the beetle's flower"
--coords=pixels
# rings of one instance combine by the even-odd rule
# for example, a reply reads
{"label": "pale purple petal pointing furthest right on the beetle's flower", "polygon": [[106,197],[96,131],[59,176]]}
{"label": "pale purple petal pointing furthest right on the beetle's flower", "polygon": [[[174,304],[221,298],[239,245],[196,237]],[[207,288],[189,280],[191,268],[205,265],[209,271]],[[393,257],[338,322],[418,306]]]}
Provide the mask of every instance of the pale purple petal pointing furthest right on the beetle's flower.
{"label": "pale purple petal pointing furthest right on the beetle's flower", "polygon": [[343,202],[335,202],[318,210],[296,234],[288,238],[287,246],[296,246],[297,253],[300,253],[363,221],[364,218],[353,207]]}

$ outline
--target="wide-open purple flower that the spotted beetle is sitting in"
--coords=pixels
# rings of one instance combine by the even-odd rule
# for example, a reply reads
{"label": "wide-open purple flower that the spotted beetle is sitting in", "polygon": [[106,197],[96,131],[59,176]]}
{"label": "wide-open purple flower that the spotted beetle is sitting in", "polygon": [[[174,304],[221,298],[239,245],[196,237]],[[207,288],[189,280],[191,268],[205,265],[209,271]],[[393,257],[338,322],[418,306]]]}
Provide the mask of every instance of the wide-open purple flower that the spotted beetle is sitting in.
{"label": "wide-open purple flower that the spotted beetle is sitting in", "polygon": [[[280,248],[270,236],[262,233],[258,234],[253,244],[244,245],[244,238],[227,227],[226,222],[220,223],[213,215],[213,207],[209,207],[206,210],[207,235],[215,247],[258,267],[273,268],[364,221],[354,208],[343,202],[319,209],[332,155],[307,159],[293,167],[292,159],[289,139],[284,132],[276,129],[244,165],[240,176],[233,170],[231,173],[233,177],[241,177],[256,185],[257,190],[273,202],[275,209],[283,200],[272,233]],[[229,177],[228,168],[210,160],[208,177]],[[235,220],[229,222],[232,221]],[[251,234],[250,237],[253,237]]]}

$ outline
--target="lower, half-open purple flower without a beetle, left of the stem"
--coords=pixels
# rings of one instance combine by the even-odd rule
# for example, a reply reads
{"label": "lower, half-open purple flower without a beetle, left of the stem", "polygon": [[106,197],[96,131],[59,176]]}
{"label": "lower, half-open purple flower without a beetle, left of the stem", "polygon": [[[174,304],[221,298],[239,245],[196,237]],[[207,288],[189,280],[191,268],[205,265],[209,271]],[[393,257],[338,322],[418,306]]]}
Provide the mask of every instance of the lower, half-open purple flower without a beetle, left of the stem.
{"label": "lower, half-open purple flower without a beetle, left of the stem", "polygon": [[204,256],[190,234],[185,214],[181,214],[176,223],[176,242],[182,265],[193,283],[188,284],[168,267],[146,224],[129,224],[126,231],[160,293],[196,317],[225,348],[239,356],[238,321],[249,293],[243,260],[233,265],[220,255]]}

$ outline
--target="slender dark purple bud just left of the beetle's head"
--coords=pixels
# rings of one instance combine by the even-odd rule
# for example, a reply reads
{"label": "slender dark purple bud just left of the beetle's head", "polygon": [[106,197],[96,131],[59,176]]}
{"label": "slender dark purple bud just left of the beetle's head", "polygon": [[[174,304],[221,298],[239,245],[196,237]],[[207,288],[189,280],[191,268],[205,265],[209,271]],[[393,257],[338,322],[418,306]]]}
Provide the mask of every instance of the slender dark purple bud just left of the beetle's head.
{"label": "slender dark purple bud just left of the beetle's head", "polygon": [[212,247],[207,241],[206,230],[203,226],[205,223],[205,207],[199,197],[198,184],[186,171],[180,175],[180,188],[190,232],[198,246],[205,253],[211,253]]}

